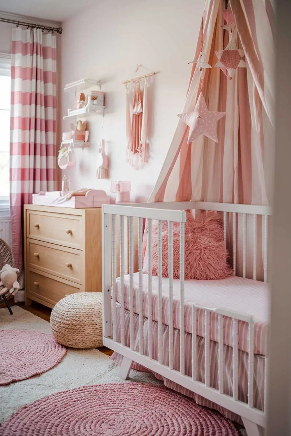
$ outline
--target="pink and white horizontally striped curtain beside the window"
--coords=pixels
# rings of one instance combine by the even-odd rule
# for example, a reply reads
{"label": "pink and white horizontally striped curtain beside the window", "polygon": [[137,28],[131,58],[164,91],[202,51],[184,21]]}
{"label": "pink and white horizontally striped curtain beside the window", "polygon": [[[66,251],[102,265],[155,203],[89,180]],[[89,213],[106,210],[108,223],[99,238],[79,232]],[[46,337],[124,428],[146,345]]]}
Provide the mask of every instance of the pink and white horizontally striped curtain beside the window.
{"label": "pink and white horizontally striped curtain beside the window", "polygon": [[56,184],[56,37],[15,28],[11,54],[10,217],[23,267],[23,205]]}

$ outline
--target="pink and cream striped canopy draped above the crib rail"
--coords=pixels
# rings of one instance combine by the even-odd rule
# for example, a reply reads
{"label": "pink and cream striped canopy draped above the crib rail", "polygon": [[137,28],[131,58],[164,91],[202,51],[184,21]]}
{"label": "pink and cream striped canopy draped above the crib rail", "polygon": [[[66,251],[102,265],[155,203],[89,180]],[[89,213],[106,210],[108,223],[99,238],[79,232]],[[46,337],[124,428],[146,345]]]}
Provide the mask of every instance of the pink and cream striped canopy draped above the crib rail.
{"label": "pink and cream striped canopy draped above the crib rail", "polygon": [[[225,2],[206,0],[203,52],[208,109],[226,111],[218,122],[215,143],[199,136],[187,144],[188,126],[178,120],[174,138],[149,201],[219,201],[269,204],[274,139],[274,11],[271,0],[229,0],[236,24],[235,41],[245,53],[246,68],[229,80],[215,51],[228,43]],[[195,59],[201,51],[201,32]],[[184,109],[191,112],[200,92],[200,71],[194,64]]]}

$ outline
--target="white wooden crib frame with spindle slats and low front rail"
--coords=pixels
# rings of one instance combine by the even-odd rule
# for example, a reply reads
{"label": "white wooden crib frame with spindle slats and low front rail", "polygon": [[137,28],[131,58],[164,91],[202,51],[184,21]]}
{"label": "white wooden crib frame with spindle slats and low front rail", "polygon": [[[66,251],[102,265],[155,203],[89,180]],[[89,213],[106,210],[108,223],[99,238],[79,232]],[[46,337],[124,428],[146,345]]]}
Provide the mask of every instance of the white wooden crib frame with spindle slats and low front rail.
{"label": "white wooden crib frame with spindle slats and low front rail", "polygon": [[[171,203],[144,203],[144,204],[104,204],[102,207],[102,256],[103,256],[103,344],[117,353],[123,355],[120,367],[120,376],[128,377],[133,361],[155,371],[161,376],[195,392],[205,399],[221,405],[225,409],[241,416],[246,427],[248,436],[264,434],[266,427],[266,392],[267,392],[267,353],[264,364],[264,411],[253,405],[253,379],[254,379],[254,317],[245,313],[233,312],[219,307],[201,307],[193,304],[192,307],[192,377],[185,375],[185,312],[184,312],[184,242],[185,242],[185,210],[195,210],[196,215],[200,211],[223,212],[224,239],[228,242],[233,257],[234,275],[256,280],[259,274],[258,258],[262,259],[264,282],[267,281],[267,246],[268,246],[268,216],[271,210],[266,206],[245,204],[209,203],[200,201],[171,202]],[[148,220],[148,352],[144,353],[143,333],[143,219]],[[124,339],[124,275],[129,272],[130,279],[130,338],[134,337],[133,320],[133,276],[134,276],[134,219],[138,219],[138,274],[139,274],[139,302],[138,302],[138,341],[139,351],[125,345]],[[158,225],[158,359],[153,358],[152,353],[152,222],[157,220]],[[173,222],[180,225],[180,370],[173,369],[173,346],[169,343],[168,365],[162,363],[162,221],[168,221],[169,229],[169,331],[173,331]],[[116,223],[119,224],[117,229]],[[258,231],[257,229],[260,229]],[[250,232],[252,249],[250,247]],[[116,235],[119,234],[117,241]],[[127,251],[127,241],[129,250]],[[117,253],[117,244],[119,253]],[[260,246],[260,252],[257,247]],[[237,262],[238,250],[240,253],[240,265]],[[252,259],[249,259],[248,251],[251,251]],[[117,340],[116,331],[116,258],[120,256],[120,341]],[[128,262],[129,260],[129,262]],[[251,277],[250,277],[251,264]],[[260,277],[259,277],[260,278]],[[114,285],[114,286],[113,286]],[[205,310],[205,382],[196,378],[196,310]],[[211,313],[218,314],[218,389],[209,385],[209,374],[212,362],[209,359],[210,321]],[[223,393],[223,317],[232,318],[233,325],[233,395]],[[247,403],[238,399],[238,322],[245,321],[248,327],[248,393]]]}

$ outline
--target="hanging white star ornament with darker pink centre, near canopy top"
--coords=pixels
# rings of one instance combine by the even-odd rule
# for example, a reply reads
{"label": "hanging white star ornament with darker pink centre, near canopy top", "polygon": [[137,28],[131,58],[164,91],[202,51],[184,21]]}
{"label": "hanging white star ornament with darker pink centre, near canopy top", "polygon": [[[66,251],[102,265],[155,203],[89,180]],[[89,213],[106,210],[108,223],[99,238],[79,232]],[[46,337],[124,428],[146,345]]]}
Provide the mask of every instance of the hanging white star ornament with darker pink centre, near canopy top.
{"label": "hanging white star ornament with darker pink centre, near canopy top", "polygon": [[224,50],[215,52],[218,62],[216,67],[226,68],[229,77],[233,78],[238,67],[246,67],[246,62],[243,60],[244,51],[236,47],[233,41],[229,41]]}

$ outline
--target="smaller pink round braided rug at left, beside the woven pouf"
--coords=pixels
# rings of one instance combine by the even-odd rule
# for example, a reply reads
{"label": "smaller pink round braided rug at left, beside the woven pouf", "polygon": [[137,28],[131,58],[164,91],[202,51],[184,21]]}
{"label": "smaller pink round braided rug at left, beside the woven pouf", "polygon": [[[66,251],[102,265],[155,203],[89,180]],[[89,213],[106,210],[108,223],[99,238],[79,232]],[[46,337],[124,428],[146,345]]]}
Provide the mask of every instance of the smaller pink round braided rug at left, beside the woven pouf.
{"label": "smaller pink round braided rug at left, beside the woven pouf", "polygon": [[67,351],[51,333],[0,330],[0,337],[0,385],[48,371]]}

